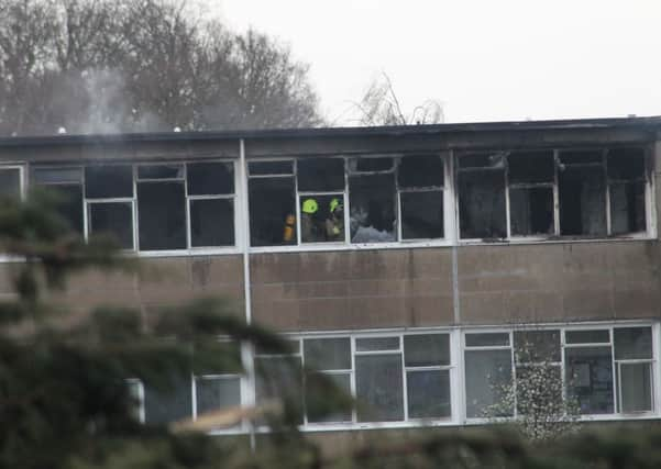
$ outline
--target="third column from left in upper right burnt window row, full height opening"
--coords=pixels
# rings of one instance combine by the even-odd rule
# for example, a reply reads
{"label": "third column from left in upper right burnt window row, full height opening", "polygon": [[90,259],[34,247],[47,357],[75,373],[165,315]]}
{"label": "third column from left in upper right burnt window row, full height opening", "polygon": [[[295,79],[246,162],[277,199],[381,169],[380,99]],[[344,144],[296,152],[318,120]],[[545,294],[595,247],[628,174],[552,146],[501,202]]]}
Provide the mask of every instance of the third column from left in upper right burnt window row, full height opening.
{"label": "third column from left in upper right burnt window row, full height opening", "polygon": [[605,236],[606,175],[603,152],[560,152],[559,159],[560,234]]}

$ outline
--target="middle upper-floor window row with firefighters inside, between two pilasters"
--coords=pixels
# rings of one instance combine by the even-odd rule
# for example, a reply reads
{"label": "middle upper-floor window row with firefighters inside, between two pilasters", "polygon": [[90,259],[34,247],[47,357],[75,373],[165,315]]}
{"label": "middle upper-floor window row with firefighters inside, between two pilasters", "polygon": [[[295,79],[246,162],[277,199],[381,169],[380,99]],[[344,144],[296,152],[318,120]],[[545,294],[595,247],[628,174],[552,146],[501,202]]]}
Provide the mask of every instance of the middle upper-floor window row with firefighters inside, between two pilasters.
{"label": "middle upper-floor window row with firefighters inside, between two pilasters", "polygon": [[249,161],[252,246],[444,237],[437,154]]}

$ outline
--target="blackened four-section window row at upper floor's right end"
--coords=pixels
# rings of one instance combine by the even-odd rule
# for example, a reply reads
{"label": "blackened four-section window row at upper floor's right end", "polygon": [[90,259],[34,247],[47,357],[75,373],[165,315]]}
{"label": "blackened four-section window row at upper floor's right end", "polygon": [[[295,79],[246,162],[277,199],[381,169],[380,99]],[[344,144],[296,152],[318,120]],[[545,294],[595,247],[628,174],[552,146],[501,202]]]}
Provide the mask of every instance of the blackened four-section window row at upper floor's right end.
{"label": "blackened four-section window row at upper floor's right end", "polygon": [[466,152],[456,161],[462,239],[647,231],[643,148]]}

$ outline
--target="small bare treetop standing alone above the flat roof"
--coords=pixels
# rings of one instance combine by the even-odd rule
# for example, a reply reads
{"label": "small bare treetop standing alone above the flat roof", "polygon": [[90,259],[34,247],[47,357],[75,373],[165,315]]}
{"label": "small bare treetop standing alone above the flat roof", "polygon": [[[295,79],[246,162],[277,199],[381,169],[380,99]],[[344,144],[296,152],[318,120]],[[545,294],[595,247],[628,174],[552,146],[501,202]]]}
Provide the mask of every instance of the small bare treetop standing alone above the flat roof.
{"label": "small bare treetop standing alone above the flat roof", "polygon": [[409,113],[401,108],[390,78],[384,72],[374,80],[359,102],[352,103],[357,111],[360,125],[412,125],[443,122],[440,102],[427,100]]}

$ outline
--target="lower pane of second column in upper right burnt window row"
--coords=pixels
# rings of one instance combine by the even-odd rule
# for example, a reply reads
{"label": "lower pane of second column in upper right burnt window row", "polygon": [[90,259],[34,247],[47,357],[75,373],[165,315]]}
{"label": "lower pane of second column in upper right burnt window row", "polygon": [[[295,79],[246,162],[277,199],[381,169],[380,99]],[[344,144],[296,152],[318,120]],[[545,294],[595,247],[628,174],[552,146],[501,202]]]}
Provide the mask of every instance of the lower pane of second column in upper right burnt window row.
{"label": "lower pane of second column in upper right burnt window row", "polygon": [[509,189],[513,236],[553,234],[553,189]]}

